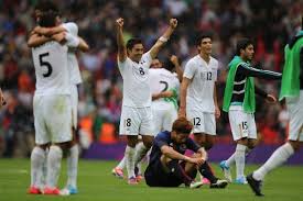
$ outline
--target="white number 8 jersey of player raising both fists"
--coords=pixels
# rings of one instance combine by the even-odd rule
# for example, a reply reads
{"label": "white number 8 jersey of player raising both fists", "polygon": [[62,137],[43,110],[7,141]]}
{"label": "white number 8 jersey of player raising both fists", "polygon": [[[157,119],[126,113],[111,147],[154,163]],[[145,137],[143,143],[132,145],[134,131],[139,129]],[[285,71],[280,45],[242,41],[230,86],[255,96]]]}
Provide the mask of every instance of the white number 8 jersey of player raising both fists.
{"label": "white number 8 jersey of player raising both fists", "polygon": [[123,78],[122,105],[132,108],[151,107],[151,89],[149,68],[152,62],[150,52],[143,54],[139,63],[129,57],[123,63],[118,60],[118,67]]}

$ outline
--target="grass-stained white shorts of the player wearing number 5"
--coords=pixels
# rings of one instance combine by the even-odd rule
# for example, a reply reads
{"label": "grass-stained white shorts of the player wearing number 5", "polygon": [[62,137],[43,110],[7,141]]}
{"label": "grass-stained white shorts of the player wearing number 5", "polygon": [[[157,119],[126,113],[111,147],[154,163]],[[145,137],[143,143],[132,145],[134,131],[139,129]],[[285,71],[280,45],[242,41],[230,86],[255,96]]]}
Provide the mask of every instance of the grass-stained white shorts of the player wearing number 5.
{"label": "grass-stained white shorts of the player wearing number 5", "polygon": [[34,96],[35,143],[64,143],[72,141],[71,96]]}

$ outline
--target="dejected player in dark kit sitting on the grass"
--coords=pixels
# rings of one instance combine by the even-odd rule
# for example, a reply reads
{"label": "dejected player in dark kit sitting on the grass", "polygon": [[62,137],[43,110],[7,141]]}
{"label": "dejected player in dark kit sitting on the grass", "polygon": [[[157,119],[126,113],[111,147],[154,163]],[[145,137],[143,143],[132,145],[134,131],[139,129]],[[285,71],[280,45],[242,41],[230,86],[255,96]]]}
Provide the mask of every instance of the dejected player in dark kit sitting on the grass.
{"label": "dejected player in dark kit sitting on the grass", "polygon": [[[197,170],[209,179],[210,188],[225,188],[228,182],[216,178],[206,163],[207,154],[197,145],[190,134],[193,125],[185,118],[174,121],[172,132],[161,132],[154,138],[150,163],[144,172],[150,187],[185,187],[198,188],[203,183],[194,180]],[[195,152],[192,157],[185,150]]]}

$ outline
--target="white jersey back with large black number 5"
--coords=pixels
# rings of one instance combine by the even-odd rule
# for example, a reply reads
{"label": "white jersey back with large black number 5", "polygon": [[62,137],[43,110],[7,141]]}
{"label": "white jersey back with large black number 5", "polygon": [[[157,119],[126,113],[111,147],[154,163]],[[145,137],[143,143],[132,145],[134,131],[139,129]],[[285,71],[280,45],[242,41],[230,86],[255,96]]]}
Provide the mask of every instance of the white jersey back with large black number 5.
{"label": "white jersey back with large black number 5", "polygon": [[69,94],[67,46],[47,42],[32,48],[37,96]]}

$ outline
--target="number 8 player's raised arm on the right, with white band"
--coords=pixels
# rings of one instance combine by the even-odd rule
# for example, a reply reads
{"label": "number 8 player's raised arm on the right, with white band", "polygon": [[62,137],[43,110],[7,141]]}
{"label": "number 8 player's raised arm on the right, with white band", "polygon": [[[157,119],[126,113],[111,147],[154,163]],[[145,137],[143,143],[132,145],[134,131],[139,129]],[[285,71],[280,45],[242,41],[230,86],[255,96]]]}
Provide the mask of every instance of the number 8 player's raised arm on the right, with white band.
{"label": "number 8 player's raised arm on the right, with white band", "polygon": [[164,32],[164,34],[155,42],[155,44],[152,46],[150,54],[152,58],[155,58],[161,47],[169,41],[172,33],[174,32],[175,27],[177,26],[177,20],[171,19],[170,20],[170,26]]}

